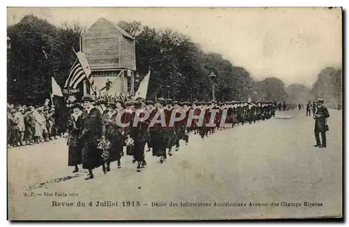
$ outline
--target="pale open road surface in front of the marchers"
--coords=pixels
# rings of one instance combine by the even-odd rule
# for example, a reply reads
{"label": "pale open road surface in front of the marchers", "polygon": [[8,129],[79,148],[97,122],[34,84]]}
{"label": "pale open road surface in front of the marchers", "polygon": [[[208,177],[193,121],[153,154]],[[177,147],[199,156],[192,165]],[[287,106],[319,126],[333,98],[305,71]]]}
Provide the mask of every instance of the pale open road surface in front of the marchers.
{"label": "pale open road surface in front of the marchers", "polygon": [[[84,170],[72,173],[73,167],[67,166],[65,139],[11,148],[9,216],[46,220],[338,217],[342,214],[342,112],[329,109],[329,114],[327,148],[313,147],[314,120],[304,116],[304,110],[276,112],[292,118],[219,131],[204,141],[191,134],[188,146],[181,143],[164,164],[147,152],[147,167],[137,173],[132,157],[124,156],[122,169],[114,163],[106,175],[96,169],[93,180],[84,180]],[[85,206],[77,206],[79,201]],[[110,206],[101,207],[104,201]],[[223,206],[226,203],[230,206]]]}

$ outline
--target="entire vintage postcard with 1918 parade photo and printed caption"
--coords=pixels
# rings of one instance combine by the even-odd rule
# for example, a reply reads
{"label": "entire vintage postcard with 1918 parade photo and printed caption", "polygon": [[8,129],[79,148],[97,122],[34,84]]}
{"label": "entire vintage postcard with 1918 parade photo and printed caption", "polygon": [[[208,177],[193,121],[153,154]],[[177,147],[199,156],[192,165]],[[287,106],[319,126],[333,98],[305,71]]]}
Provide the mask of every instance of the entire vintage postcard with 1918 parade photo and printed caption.
{"label": "entire vintage postcard with 1918 parade photo and printed caption", "polygon": [[341,8],[7,8],[9,220],[343,216]]}

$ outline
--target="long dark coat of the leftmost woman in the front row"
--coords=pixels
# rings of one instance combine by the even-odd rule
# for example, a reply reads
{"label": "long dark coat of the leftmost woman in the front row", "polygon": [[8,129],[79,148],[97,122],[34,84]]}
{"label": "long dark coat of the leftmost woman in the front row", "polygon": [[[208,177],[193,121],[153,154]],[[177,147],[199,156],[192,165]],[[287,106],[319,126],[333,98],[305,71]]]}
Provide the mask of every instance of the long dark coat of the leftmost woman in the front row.
{"label": "long dark coat of the leftmost woman in the front row", "polygon": [[82,164],[82,144],[80,143],[79,136],[84,126],[83,116],[71,116],[69,121],[69,135],[68,135],[68,166],[75,166]]}

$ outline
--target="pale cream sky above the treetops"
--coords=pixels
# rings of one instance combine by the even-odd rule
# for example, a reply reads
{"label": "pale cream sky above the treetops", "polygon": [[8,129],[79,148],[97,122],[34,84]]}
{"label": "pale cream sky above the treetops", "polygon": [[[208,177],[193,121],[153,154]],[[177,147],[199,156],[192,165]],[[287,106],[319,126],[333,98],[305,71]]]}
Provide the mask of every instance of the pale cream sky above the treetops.
{"label": "pale cream sky above the treetops", "polygon": [[311,86],[322,68],[341,67],[339,8],[8,8],[8,24],[28,13],[60,25],[91,26],[100,17],[141,21],[190,36],[205,52],[242,66],[254,79]]}

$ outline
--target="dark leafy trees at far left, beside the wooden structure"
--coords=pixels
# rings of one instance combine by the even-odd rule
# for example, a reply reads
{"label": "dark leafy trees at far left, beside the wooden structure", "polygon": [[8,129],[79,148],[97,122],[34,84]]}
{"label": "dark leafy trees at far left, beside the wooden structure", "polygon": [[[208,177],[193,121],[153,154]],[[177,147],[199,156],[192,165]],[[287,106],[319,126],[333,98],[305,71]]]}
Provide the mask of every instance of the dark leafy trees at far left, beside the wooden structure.
{"label": "dark leafy trees at far left, beside the wooden structure", "polygon": [[[80,26],[57,27],[34,15],[8,26],[8,101],[42,104],[50,96],[51,76],[62,86],[79,48]],[[43,54],[47,53],[50,65]],[[54,72],[52,72],[51,68]]]}

